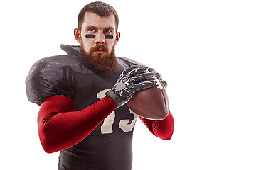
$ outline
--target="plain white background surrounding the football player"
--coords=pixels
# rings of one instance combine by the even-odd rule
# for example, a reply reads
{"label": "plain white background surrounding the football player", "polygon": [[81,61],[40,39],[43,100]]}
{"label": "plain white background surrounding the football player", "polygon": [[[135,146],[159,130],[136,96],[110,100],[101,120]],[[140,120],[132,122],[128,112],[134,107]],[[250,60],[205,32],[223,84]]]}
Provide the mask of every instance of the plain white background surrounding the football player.
{"label": "plain white background surrounding the football player", "polygon": [[[65,54],[90,1],[4,1],[1,17],[0,169],[57,169],[38,139],[38,106],[25,79],[42,57]],[[105,1],[119,13],[117,56],[154,67],[169,83],[174,136],[137,121],[137,169],[256,169],[256,5],[249,0]]]}

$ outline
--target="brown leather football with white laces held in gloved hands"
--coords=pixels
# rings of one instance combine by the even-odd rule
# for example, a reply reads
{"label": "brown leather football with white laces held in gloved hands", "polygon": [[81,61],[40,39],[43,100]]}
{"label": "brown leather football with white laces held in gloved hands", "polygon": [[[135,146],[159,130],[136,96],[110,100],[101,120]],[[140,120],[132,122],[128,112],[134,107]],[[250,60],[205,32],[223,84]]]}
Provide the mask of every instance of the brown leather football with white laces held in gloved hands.
{"label": "brown leather football with white laces held in gloved hands", "polygon": [[163,120],[169,113],[169,101],[166,89],[161,81],[154,77],[156,84],[137,91],[127,102],[127,106],[137,115],[150,120]]}

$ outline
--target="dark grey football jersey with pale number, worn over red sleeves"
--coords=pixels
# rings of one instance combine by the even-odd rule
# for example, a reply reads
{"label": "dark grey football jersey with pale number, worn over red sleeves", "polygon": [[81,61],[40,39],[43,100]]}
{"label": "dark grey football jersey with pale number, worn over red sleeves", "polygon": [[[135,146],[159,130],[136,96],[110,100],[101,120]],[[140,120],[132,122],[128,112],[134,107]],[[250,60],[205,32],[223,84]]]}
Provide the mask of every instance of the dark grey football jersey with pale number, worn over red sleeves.
{"label": "dark grey football jersey with pale number, worn over red sleeves", "polygon": [[[75,103],[75,111],[92,105],[105,96],[124,69],[134,60],[117,57],[118,69],[102,76],[80,61],[79,46],[61,45],[67,55],[38,60],[26,79],[28,100],[38,104],[51,96],[65,96]],[[77,145],[60,151],[59,169],[132,168],[132,134],[137,115],[124,105],[113,111],[100,125]]]}

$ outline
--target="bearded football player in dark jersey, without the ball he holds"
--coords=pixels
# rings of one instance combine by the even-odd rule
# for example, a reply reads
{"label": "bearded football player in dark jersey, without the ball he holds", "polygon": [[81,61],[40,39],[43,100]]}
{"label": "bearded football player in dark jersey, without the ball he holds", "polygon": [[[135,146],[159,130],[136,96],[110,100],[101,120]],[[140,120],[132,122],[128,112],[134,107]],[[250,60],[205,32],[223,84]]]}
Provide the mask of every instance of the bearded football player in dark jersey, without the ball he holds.
{"label": "bearded football player in dark jersey, without the ball he holds", "polygon": [[58,169],[132,169],[137,118],[156,137],[171,139],[171,113],[164,120],[147,120],[125,104],[136,91],[154,86],[154,81],[146,80],[156,72],[115,56],[117,28],[112,6],[87,4],[74,30],[80,46],[61,45],[67,55],[38,60],[28,73],[28,100],[40,106],[41,144],[47,153],[60,151]]}

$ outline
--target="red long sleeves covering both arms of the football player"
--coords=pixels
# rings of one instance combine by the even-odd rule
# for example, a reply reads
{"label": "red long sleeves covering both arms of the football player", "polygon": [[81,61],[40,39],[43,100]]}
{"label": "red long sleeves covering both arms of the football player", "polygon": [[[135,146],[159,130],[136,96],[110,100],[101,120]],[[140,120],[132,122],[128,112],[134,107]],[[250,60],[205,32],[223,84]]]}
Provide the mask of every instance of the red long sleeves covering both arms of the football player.
{"label": "red long sleeves covering both arms of the football player", "polygon": [[[114,101],[108,97],[81,111],[74,111],[74,102],[70,98],[53,96],[46,99],[38,113],[38,133],[43,149],[52,153],[76,145],[90,135],[114,109]],[[141,120],[157,137],[171,139],[174,129],[171,113],[164,120]]]}

